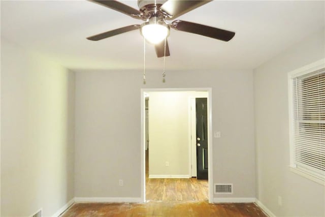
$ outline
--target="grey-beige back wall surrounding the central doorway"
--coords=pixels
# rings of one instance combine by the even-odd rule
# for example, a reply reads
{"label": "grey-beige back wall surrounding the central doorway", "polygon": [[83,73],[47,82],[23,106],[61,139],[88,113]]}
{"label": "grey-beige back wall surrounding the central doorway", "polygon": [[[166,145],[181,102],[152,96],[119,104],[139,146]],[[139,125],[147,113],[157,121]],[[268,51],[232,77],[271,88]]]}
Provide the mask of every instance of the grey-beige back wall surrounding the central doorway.
{"label": "grey-beige back wall surrounding the central doorway", "polygon": [[[185,64],[185,63],[184,63]],[[168,69],[168,65],[167,65]],[[76,197],[141,197],[141,88],[212,88],[213,183],[255,197],[251,70],[76,72]],[[124,186],[118,180],[123,179]]]}

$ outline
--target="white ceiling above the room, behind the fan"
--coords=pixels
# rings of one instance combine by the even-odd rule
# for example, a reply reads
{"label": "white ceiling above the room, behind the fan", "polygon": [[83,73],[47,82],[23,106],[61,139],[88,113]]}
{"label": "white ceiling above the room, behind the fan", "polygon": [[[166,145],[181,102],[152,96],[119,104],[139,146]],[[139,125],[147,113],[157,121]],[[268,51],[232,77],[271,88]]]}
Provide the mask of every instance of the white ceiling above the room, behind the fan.
{"label": "white ceiling above the room, behind the fan", "polygon": [[[137,1],[124,1],[138,9]],[[229,42],[171,29],[167,70],[254,69],[324,28],[324,1],[213,1],[177,19],[236,32]],[[143,69],[139,30],[102,41],[86,37],[141,20],[87,1],[1,1],[1,37],[70,69]],[[161,69],[146,44],[146,68]]]}

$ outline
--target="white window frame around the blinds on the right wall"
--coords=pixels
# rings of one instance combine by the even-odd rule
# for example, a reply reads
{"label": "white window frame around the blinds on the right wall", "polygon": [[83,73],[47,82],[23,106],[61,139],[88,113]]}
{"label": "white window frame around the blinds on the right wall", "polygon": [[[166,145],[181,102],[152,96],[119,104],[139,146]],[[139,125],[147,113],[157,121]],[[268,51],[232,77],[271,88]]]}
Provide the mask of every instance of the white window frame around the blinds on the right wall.
{"label": "white window frame around the blinds on the right wall", "polygon": [[288,104],[289,104],[289,144],[290,144],[290,171],[295,172],[299,175],[302,175],[310,180],[313,180],[317,183],[320,183],[322,185],[325,185],[325,176],[321,174],[316,174],[312,170],[309,170],[308,168],[299,167],[296,165],[294,160],[294,154],[295,154],[295,146],[294,146],[294,96],[293,96],[293,79],[313,73],[317,70],[325,68],[325,58],[316,61],[315,63],[309,64],[307,66],[304,66],[302,68],[299,68],[297,70],[294,70],[292,72],[288,73]]}

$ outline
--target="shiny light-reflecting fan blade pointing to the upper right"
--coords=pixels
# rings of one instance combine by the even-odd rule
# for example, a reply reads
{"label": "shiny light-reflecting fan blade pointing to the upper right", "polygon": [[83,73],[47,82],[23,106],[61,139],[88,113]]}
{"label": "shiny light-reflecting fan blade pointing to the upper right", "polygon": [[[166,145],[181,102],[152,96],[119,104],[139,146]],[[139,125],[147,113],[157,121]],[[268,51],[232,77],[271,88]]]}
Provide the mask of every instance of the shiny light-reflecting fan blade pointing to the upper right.
{"label": "shiny light-reflecting fan blade pointing to the upper right", "polygon": [[160,10],[170,15],[170,17],[166,17],[167,20],[172,20],[175,19],[176,17],[179,17],[182,14],[185,14],[193,9],[199,8],[200,6],[205,5],[209,2],[212,2],[212,0],[209,1],[168,0],[160,7]]}

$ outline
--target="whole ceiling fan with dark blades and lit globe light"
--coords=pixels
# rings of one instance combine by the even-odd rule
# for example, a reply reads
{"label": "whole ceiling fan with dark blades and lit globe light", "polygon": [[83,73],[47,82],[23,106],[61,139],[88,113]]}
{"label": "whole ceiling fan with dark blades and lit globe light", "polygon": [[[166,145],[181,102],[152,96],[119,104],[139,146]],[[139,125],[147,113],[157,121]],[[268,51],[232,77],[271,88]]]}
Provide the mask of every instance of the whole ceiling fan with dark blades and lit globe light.
{"label": "whole ceiling fan with dark blades and lit globe light", "polygon": [[87,38],[88,40],[99,41],[135,29],[140,29],[142,36],[150,43],[155,44],[157,57],[170,56],[169,46],[167,42],[170,27],[175,30],[198,34],[222,41],[229,41],[235,36],[234,32],[215,28],[212,26],[202,25],[199,23],[183,20],[174,20],[171,23],[167,22],[167,20],[173,20],[182,14],[194,10],[211,1],[138,0],[138,6],[140,10],[127,6],[116,0],[90,0],[90,2],[100,4],[133,18],[144,20],[145,22],[141,25],[128,25],[110,30],[105,33],[90,36]]}

